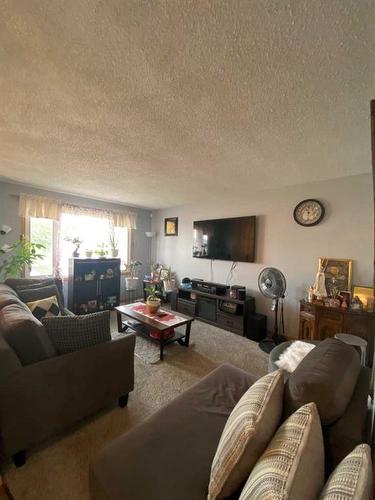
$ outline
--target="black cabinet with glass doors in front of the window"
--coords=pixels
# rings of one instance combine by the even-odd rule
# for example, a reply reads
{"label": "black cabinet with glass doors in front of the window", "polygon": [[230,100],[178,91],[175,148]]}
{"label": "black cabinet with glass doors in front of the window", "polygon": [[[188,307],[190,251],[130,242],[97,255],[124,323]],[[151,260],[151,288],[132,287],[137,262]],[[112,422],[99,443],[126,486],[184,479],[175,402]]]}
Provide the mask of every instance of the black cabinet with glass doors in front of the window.
{"label": "black cabinet with glass doors in front of the window", "polygon": [[120,304],[121,259],[69,259],[68,307],[74,314]]}

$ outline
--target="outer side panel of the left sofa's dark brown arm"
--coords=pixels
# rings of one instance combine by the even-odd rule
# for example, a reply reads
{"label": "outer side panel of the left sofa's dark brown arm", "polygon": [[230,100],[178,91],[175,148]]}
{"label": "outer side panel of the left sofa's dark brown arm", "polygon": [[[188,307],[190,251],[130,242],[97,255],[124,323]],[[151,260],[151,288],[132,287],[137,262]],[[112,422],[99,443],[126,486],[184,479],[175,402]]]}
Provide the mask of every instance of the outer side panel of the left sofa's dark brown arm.
{"label": "outer side panel of the left sofa's dark brown arm", "polygon": [[134,387],[135,335],[48,358],[0,385],[0,429],[13,454],[110,406]]}

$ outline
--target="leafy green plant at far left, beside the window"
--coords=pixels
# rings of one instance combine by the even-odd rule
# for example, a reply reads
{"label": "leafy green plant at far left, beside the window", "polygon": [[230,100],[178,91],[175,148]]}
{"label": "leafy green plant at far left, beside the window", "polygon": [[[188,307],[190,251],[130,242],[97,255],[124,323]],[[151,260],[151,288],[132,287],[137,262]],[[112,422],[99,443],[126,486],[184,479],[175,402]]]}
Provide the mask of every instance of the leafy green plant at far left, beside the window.
{"label": "leafy green plant at far left, beside the window", "polygon": [[30,268],[34,262],[44,257],[41,250],[44,245],[32,243],[21,238],[11,245],[5,244],[0,248],[0,282],[6,278],[19,277]]}

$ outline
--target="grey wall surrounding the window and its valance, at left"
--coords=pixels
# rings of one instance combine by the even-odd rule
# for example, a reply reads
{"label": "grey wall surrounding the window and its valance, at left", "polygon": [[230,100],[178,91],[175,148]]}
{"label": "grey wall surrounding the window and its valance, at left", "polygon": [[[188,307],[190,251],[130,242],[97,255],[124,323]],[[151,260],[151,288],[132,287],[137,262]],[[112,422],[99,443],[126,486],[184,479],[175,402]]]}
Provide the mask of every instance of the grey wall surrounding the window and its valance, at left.
{"label": "grey wall surrounding the window and its valance, at left", "polygon": [[20,193],[32,193],[39,196],[47,196],[88,208],[102,208],[109,210],[129,209],[132,212],[135,212],[137,214],[137,229],[133,234],[133,258],[140,260],[143,263],[139,272],[140,277],[142,277],[143,274],[149,270],[150,241],[145,235],[145,231],[150,231],[151,229],[151,212],[149,210],[0,181],[0,225],[6,224],[13,229],[10,233],[2,237],[0,242],[1,245],[4,243],[13,243],[20,237],[21,221],[18,216]]}

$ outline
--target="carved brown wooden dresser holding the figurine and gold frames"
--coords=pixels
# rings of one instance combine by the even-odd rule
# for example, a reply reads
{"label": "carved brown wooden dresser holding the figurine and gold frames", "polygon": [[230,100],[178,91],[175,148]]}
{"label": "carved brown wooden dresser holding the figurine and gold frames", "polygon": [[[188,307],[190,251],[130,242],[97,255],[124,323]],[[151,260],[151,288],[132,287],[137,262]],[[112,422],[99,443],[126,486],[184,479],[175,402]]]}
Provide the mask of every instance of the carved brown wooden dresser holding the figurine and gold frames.
{"label": "carved brown wooden dresser holding the figurine and gold frames", "polygon": [[367,365],[372,366],[375,313],[352,311],[300,301],[300,340],[324,340],[336,333],[351,333],[367,340]]}

